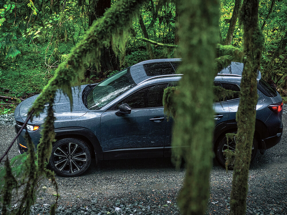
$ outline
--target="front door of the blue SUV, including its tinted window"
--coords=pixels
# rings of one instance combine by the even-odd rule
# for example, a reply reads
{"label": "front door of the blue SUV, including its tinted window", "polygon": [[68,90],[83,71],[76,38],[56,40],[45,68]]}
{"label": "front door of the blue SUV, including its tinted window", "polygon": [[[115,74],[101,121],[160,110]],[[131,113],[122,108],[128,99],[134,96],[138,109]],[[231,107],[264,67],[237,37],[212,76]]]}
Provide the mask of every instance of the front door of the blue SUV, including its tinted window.
{"label": "front door of the blue SUV, including its tinted window", "polygon": [[[163,157],[166,133],[162,95],[167,84],[142,88],[104,112],[101,116],[101,145],[104,159]],[[121,104],[131,107],[130,114],[117,116]]]}

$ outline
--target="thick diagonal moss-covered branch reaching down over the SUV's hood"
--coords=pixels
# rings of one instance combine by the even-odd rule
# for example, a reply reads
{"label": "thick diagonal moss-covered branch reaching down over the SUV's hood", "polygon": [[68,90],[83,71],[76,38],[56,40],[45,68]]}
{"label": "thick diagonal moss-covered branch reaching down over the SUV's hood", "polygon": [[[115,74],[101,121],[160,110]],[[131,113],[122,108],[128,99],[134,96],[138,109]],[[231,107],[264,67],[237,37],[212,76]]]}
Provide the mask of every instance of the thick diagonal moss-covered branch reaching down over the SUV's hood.
{"label": "thick diagonal moss-covered branch reaching down over the SUV's hood", "polygon": [[72,107],[71,86],[79,83],[84,77],[85,66],[93,60],[96,68],[100,67],[100,49],[109,44],[111,38],[128,30],[131,19],[139,11],[144,0],[123,0],[110,7],[104,16],[94,21],[84,38],[71,50],[68,59],[61,64],[48,85],[33,104],[35,114],[40,114],[44,103],[53,103],[57,89],[62,89],[70,98]]}

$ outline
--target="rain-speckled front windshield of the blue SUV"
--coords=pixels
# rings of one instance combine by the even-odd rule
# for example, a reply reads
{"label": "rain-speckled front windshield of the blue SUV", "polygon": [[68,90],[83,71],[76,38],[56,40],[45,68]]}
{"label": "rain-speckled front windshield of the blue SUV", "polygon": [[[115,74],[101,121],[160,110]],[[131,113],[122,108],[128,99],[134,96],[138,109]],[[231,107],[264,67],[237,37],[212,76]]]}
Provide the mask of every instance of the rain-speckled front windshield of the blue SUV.
{"label": "rain-speckled front windshield of the blue SUV", "polygon": [[96,85],[88,93],[87,108],[90,110],[99,110],[136,85],[131,77],[129,68],[118,72]]}

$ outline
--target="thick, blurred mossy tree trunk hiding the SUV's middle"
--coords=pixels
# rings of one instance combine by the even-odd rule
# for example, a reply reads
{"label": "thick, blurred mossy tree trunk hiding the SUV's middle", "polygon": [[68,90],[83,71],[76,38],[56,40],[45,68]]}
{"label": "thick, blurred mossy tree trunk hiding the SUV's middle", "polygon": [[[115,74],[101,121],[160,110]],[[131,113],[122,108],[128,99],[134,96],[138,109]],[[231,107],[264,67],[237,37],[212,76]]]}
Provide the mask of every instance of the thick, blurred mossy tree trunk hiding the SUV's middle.
{"label": "thick, blurred mossy tree trunk hiding the SUV's middle", "polygon": [[[186,162],[186,176],[178,197],[182,214],[205,214],[212,166],[214,111],[212,86],[218,38],[219,4],[214,0],[180,1],[179,34],[183,77],[176,97],[173,146]],[[212,36],[210,36],[212,35]],[[177,147],[179,146],[179,147]]]}

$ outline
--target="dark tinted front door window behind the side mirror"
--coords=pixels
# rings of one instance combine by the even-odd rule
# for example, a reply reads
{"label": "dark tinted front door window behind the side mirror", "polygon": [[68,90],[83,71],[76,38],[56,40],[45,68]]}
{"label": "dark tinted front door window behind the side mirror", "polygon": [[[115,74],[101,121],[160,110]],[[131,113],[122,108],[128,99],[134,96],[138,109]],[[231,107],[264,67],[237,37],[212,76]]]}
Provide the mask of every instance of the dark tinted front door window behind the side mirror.
{"label": "dark tinted front door window behind the side mirror", "polygon": [[158,84],[141,89],[117,104],[116,109],[118,110],[119,105],[124,103],[127,103],[131,109],[163,107],[162,96],[167,86],[168,84]]}

